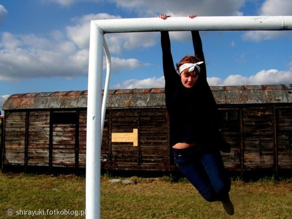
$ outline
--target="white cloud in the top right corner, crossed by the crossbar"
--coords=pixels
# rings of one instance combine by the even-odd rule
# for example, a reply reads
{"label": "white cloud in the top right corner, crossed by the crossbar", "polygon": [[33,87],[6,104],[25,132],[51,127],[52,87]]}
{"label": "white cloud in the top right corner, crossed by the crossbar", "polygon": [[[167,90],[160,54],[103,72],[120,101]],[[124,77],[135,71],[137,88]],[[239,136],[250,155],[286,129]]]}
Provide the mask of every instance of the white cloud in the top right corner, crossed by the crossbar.
{"label": "white cloud in the top right corner, crossed by the crossbar", "polygon": [[[290,16],[292,15],[291,0],[266,0],[261,5],[259,16]],[[261,41],[291,35],[291,31],[248,31],[244,40]]]}

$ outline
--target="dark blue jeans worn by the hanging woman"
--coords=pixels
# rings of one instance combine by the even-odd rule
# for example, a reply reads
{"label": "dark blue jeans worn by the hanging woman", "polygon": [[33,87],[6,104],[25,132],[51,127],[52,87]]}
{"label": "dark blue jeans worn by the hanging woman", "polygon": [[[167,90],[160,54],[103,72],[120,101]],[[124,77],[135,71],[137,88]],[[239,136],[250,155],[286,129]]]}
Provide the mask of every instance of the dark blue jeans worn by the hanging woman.
{"label": "dark blue jeans worn by the hanging woman", "polygon": [[172,151],[183,175],[206,201],[225,201],[229,198],[231,182],[219,150],[205,153],[195,146],[172,148]]}

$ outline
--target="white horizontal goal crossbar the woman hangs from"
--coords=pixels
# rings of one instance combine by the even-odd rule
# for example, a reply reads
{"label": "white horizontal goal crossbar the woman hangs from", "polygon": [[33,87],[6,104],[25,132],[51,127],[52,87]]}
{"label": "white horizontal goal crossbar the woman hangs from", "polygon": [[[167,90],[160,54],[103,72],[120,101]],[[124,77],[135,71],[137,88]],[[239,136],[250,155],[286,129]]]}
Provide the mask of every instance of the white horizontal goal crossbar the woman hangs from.
{"label": "white horizontal goal crossbar the woman hangs from", "polygon": [[94,20],[105,33],[154,31],[292,30],[292,16],[124,18]]}

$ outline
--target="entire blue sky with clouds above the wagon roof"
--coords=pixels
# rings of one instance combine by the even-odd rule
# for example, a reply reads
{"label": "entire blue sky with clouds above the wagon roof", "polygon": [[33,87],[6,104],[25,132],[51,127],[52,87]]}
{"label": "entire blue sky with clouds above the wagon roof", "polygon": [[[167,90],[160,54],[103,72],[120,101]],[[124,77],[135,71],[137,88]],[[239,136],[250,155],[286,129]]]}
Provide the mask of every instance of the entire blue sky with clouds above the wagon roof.
{"label": "entire blue sky with clouds above the wagon roof", "polygon": [[[291,0],[0,0],[0,108],[15,93],[87,90],[90,21],[288,16]],[[158,18],[159,19],[159,18]],[[172,32],[175,62],[189,32]],[[210,86],[292,84],[291,31],[201,32]],[[160,34],[108,34],[110,89],[164,87]]]}

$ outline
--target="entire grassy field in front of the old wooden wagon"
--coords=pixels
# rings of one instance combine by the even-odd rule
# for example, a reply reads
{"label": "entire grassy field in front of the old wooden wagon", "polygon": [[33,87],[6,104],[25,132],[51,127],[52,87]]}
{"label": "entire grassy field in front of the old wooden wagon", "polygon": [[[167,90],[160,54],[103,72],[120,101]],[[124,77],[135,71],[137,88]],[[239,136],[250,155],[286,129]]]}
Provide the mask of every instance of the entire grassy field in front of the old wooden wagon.
{"label": "entire grassy field in front of the old wooden wagon", "polygon": [[[168,177],[128,178],[132,184],[101,179],[103,219],[289,219],[292,216],[292,179],[232,182],[235,215],[228,216],[219,202],[204,201],[186,180]],[[7,209],[14,215],[8,217]],[[74,216],[19,216],[18,210],[84,211],[85,178],[74,175],[0,173],[0,218],[78,218]]]}

